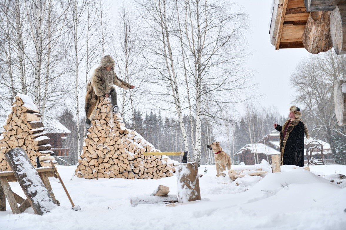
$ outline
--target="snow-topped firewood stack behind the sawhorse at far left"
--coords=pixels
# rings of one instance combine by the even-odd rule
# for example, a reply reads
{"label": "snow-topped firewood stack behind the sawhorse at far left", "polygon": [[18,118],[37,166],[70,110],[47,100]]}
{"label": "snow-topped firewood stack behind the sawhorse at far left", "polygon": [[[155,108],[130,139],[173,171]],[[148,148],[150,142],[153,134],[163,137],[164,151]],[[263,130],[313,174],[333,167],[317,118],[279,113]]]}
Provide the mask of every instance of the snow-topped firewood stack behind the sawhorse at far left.
{"label": "snow-topped firewood stack behind the sawhorse at far left", "polygon": [[[50,150],[52,146],[48,144],[49,137],[44,135],[45,129],[39,110],[28,96],[17,94],[3,128],[0,136],[0,171],[11,170],[4,153],[17,147],[27,152],[34,167],[37,166],[37,157],[42,160],[40,162],[42,166],[50,166],[48,161],[44,161],[48,159],[44,156],[53,153]],[[49,159],[55,160],[52,157]]]}

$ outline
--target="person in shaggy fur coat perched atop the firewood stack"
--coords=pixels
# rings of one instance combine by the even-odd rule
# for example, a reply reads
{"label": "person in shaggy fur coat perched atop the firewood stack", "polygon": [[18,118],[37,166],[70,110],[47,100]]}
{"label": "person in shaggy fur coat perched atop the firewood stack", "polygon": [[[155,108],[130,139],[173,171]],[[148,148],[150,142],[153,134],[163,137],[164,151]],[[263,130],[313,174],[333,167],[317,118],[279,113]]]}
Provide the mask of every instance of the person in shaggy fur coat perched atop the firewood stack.
{"label": "person in shaggy fur coat perched atop the firewood stack", "polygon": [[86,87],[85,95],[85,127],[91,126],[91,119],[95,115],[96,106],[100,102],[100,97],[111,97],[113,113],[117,113],[118,102],[117,93],[113,85],[123,89],[133,89],[135,86],[119,79],[114,72],[115,61],[110,55],[101,58],[100,65],[94,70],[91,79]]}

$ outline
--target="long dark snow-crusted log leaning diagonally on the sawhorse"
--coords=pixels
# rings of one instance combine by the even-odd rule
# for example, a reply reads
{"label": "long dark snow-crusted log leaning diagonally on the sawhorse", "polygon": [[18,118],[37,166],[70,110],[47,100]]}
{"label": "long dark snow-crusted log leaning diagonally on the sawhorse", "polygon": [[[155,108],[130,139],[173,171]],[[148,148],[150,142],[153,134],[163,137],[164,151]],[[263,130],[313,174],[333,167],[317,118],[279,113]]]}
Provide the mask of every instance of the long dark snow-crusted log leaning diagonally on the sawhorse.
{"label": "long dark snow-crusted log leaning diagonally on the sawhorse", "polygon": [[57,207],[24,149],[14,148],[5,157],[36,214],[43,215]]}

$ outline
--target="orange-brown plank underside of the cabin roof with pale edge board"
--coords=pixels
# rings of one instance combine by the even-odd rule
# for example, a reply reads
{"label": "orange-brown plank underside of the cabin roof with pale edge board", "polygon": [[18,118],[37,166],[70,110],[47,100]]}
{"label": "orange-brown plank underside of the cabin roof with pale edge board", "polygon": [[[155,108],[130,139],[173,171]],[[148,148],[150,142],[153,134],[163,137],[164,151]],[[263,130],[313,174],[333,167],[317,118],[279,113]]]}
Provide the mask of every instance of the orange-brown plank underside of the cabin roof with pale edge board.
{"label": "orange-brown plank underside of the cabin roof with pale edge board", "polygon": [[309,14],[304,0],[274,0],[269,33],[276,50],[304,47],[302,35]]}

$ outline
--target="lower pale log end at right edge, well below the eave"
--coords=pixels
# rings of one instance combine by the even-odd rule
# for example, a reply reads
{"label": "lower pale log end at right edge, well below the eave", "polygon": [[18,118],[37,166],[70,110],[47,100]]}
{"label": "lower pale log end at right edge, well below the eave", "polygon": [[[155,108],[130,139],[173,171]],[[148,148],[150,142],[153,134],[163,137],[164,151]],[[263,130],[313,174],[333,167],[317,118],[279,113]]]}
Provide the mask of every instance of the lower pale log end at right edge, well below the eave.
{"label": "lower pale log end at right edge, well below the eave", "polygon": [[334,84],[334,109],[338,125],[346,125],[346,80]]}

